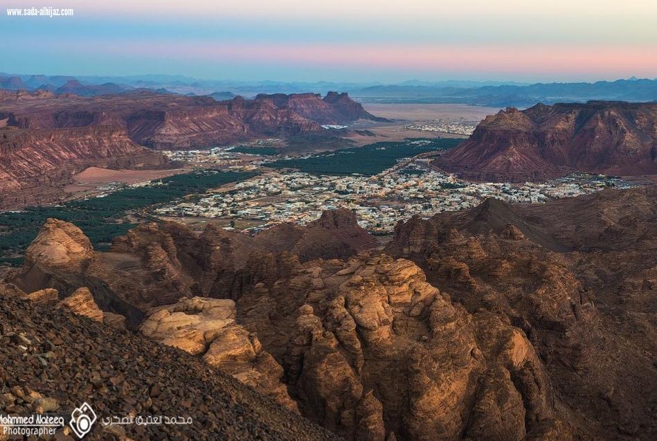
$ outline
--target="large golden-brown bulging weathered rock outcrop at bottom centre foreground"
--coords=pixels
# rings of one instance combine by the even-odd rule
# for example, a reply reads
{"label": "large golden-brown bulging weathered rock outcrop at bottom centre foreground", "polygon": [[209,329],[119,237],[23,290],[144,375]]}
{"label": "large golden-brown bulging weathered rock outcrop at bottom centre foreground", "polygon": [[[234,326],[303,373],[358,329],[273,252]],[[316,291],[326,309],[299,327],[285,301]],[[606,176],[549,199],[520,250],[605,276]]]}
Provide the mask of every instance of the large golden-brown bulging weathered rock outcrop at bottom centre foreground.
{"label": "large golden-brown bulging weathered rock outcrop at bottom centre foreground", "polygon": [[285,368],[302,415],[347,439],[573,433],[525,333],[467,313],[408,260],[300,264],[246,292],[237,310]]}

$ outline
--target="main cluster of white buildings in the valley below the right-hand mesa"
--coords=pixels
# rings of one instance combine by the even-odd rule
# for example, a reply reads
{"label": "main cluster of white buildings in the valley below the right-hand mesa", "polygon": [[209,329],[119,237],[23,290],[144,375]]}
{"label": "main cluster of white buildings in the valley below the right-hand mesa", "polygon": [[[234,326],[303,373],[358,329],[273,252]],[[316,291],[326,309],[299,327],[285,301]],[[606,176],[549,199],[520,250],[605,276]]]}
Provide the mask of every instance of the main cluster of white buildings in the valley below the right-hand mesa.
{"label": "main cluster of white buildings in the valley below the right-hand mesa", "polygon": [[[224,152],[227,154],[227,152]],[[262,161],[258,161],[262,163]],[[402,162],[402,161],[400,161]],[[262,174],[224,186],[193,201],[176,201],[154,208],[164,218],[223,220],[226,228],[246,222],[244,231],[260,231],[282,222],[305,224],[323,210],[349,208],[370,233],[388,235],[395,224],[413,215],[431,217],[480,204],[488,197],[512,203],[539,204],[574,197],[604,187],[629,188],[614,177],[579,173],[546,183],[474,183],[431,170],[424,159],[405,162],[375,176],[333,176],[285,172],[261,167]],[[262,163],[266,165],[266,163]],[[253,170],[255,165],[231,165],[231,170]]]}

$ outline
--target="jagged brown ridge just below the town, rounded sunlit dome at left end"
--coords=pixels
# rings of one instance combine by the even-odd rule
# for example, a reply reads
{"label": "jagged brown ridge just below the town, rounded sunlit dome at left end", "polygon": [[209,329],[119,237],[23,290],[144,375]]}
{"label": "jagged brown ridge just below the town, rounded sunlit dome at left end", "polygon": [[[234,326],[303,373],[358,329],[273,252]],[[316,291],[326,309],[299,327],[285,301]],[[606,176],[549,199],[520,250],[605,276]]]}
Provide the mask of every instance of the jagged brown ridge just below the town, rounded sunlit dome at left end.
{"label": "jagged brown ridge just below the town, rounded sunlit dome at left end", "polygon": [[[174,222],[142,224],[117,237],[109,253],[93,251],[78,227],[48,219],[28,247],[16,282],[24,291],[51,287],[64,295],[89,287],[101,309],[126,314],[183,296],[239,298],[246,287],[287,273],[290,262],[348,258],[375,245],[350,210],[327,212],[308,226],[282,224],[255,237],[212,225],[197,235]],[[118,300],[121,305],[110,305]],[[141,321],[140,314],[131,314],[130,322]]]}

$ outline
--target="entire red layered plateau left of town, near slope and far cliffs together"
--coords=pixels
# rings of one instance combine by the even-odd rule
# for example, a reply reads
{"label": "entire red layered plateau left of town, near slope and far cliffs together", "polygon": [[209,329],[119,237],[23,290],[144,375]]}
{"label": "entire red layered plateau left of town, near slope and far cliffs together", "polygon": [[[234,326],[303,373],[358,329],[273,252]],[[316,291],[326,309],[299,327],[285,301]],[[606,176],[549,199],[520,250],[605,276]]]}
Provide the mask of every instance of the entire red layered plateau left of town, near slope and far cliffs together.
{"label": "entire red layered plateau left of town, near slope and far cliffs together", "polygon": [[378,119],[334,92],[217,102],[150,91],[93,98],[0,91],[0,208],[61,199],[73,174],[89,167],[171,167],[156,150],[320,133],[323,124],[359,118]]}

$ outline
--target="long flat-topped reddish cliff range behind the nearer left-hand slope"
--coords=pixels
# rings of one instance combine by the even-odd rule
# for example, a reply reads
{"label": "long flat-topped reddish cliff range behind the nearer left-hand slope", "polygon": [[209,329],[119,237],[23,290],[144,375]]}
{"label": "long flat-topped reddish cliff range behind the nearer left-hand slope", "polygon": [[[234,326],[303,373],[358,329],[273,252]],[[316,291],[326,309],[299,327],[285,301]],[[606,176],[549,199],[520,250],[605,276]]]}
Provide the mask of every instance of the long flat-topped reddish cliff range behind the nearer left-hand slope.
{"label": "long flat-topped reddish cliff range behind the nearer left-hand slope", "polygon": [[[43,92],[41,92],[43,93]],[[154,149],[209,147],[261,136],[321,131],[321,124],[376,119],[346,93],[262,95],[217,101],[142,91],[82,98],[71,94],[3,93],[0,120],[26,129],[111,125]]]}

